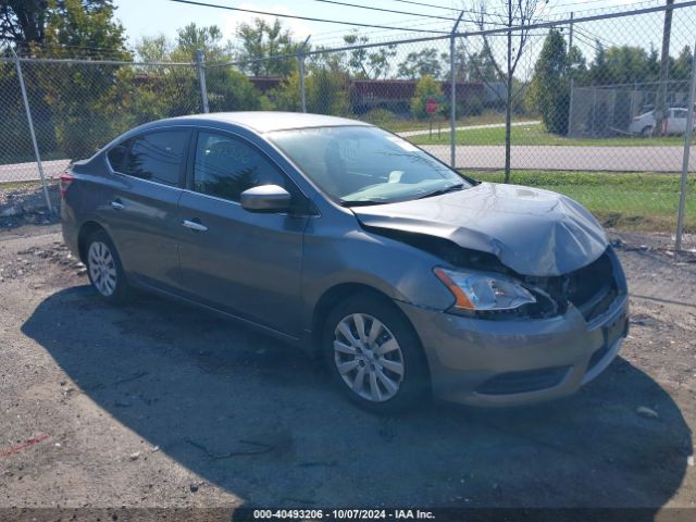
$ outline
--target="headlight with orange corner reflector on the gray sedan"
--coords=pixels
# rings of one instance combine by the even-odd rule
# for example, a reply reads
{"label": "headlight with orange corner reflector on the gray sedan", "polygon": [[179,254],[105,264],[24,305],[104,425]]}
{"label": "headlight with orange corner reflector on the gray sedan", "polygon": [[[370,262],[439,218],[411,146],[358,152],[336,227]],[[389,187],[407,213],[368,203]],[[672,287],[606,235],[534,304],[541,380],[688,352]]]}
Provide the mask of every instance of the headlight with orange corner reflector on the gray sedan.
{"label": "headlight with orange corner reflector on the gray sedan", "polygon": [[513,310],[536,302],[522,285],[500,274],[435,269],[435,275],[455,295],[462,311]]}

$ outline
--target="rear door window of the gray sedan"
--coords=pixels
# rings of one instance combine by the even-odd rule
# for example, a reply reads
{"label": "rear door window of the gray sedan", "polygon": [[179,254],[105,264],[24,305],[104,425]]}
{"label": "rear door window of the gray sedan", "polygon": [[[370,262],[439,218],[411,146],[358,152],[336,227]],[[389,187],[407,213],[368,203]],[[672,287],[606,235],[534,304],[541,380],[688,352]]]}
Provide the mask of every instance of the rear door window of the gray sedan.
{"label": "rear door window of the gray sedan", "polygon": [[125,159],[125,174],[176,186],[188,130],[161,130],[135,138]]}

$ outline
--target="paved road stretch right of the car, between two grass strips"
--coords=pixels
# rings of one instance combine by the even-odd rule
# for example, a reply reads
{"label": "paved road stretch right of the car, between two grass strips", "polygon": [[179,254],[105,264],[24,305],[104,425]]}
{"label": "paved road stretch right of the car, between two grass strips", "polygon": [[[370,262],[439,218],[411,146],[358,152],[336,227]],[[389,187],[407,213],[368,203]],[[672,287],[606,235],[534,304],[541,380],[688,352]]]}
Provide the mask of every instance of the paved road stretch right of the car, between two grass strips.
{"label": "paved road stretch right of the car, between two grass strips", "polygon": [[[448,145],[423,146],[433,156],[449,163]],[[512,169],[554,171],[681,172],[682,147],[561,147],[512,146]],[[505,147],[458,146],[457,166],[461,169],[502,169]],[[696,170],[692,151],[689,171]]]}

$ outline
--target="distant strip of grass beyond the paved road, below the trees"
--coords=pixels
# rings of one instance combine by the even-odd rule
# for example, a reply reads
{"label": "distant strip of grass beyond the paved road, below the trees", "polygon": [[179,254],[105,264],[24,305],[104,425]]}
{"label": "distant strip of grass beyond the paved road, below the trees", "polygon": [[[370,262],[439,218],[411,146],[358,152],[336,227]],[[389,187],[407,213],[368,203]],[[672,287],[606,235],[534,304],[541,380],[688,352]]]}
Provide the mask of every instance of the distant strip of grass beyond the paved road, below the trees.
{"label": "distant strip of grass beyond the paved road, below the trees", "polygon": [[[464,123],[464,125],[474,125]],[[411,136],[407,138],[415,145],[449,145],[449,132],[445,128],[438,138],[427,135]],[[679,136],[641,138],[641,137],[617,137],[617,138],[566,138],[546,132],[543,124],[513,126],[511,128],[512,145],[550,145],[550,146],[599,146],[599,147],[655,147],[660,145],[683,146],[684,138]],[[456,136],[457,145],[505,145],[505,127],[477,128],[471,130],[458,130]]]}

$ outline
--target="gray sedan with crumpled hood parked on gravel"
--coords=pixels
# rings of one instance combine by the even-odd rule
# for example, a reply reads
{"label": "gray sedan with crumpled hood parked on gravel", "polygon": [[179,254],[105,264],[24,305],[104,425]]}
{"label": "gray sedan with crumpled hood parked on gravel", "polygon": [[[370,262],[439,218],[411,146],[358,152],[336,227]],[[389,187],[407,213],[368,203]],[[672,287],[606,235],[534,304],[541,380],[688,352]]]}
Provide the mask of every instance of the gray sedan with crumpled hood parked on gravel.
{"label": "gray sedan with crumpled hood parked on gravel", "polygon": [[627,332],[623,271],[583,207],[361,122],[153,122],[75,163],[61,194],[65,243],[105,300],[146,289],[261,328],[377,412],[561,397]]}

